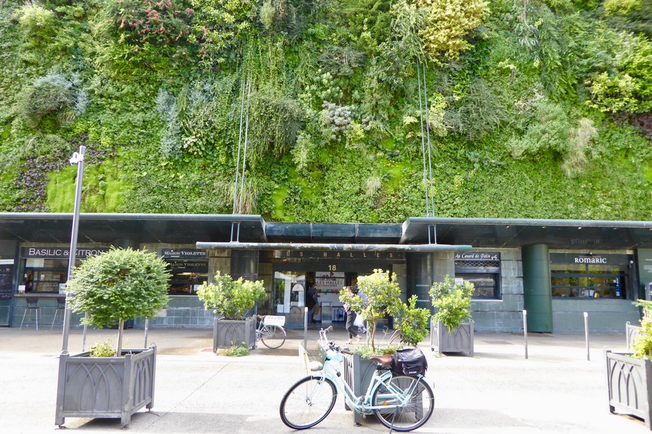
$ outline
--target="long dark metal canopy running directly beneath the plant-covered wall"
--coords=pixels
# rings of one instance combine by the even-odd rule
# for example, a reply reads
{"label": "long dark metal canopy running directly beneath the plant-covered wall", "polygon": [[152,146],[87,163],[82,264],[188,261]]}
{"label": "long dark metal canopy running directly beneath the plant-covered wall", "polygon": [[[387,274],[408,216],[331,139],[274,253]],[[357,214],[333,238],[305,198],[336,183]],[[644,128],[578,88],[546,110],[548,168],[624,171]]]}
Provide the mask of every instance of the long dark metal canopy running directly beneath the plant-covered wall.
{"label": "long dark metal canopy running directly beneath the plant-covered wall", "polygon": [[[652,222],[410,217],[403,224],[311,224],[268,223],[260,215],[89,213],[80,216],[79,243],[228,243],[235,240],[233,223],[235,229],[240,224],[240,243],[427,245],[429,228],[432,234],[436,226],[436,242],[449,246],[518,248],[543,243],[568,250],[652,248]],[[72,213],[0,213],[0,240],[67,244],[71,229]]]}

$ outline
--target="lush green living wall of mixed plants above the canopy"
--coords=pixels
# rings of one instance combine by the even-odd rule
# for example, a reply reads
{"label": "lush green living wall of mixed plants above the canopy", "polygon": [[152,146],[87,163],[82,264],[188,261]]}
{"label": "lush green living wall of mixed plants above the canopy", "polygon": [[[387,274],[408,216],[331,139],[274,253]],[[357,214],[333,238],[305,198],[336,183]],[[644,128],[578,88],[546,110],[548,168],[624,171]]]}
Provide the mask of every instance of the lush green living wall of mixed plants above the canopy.
{"label": "lush green living wall of mixed plants above the canopy", "polygon": [[84,144],[83,212],[230,213],[246,137],[238,211],[268,220],[402,222],[426,187],[441,217],[649,220],[651,14],[3,1],[0,212],[71,212]]}

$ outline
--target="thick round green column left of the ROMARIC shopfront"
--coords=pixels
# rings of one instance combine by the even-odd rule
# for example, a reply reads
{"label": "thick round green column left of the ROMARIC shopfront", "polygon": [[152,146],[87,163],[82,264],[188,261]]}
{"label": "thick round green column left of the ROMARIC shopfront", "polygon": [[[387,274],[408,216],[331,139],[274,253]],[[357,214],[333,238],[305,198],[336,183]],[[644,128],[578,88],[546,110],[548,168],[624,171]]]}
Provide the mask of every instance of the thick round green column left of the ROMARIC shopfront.
{"label": "thick round green column left of the ROMARIC shopfront", "polygon": [[526,245],[523,259],[523,302],[528,311],[528,331],[552,332],[550,257],[545,244]]}

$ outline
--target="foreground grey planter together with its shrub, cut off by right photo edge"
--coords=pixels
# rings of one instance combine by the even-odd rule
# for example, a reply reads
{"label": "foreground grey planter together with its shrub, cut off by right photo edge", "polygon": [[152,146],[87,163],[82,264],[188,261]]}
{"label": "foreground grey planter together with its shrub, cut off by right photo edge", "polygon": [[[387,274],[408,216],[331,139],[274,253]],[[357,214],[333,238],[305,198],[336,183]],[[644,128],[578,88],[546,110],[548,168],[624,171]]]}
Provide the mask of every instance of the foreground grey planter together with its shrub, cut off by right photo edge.
{"label": "foreground grey planter together with its shrub, cut off by right photo edge", "polygon": [[652,302],[639,300],[644,316],[632,343],[633,353],[605,351],[609,411],[630,414],[652,429]]}

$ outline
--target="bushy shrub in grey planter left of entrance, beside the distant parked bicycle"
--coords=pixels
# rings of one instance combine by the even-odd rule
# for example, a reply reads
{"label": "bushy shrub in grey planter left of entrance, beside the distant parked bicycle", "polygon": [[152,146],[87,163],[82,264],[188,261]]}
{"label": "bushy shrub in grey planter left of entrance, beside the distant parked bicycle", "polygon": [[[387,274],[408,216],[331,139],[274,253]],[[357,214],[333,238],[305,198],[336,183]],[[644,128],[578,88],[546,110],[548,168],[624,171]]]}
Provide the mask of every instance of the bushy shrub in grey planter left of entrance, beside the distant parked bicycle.
{"label": "bushy shrub in grey planter left of entrance, beside the distant parked bicycle", "polygon": [[214,282],[204,282],[197,288],[197,297],[204,301],[204,307],[217,314],[213,325],[213,351],[240,344],[245,348],[256,346],[256,320],[253,316],[245,318],[245,315],[266,294],[262,280],[233,280],[219,271]]}

